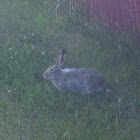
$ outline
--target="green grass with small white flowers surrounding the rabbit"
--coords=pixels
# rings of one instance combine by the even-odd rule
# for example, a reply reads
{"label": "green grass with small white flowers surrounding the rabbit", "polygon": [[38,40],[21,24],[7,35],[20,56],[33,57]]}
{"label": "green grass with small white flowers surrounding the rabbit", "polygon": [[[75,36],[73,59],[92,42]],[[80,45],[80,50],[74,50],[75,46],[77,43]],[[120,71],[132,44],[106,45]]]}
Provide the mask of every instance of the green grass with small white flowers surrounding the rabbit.
{"label": "green grass with small white flowers surrounding the rabbit", "polygon": [[[139,34],[90,25],[68,1],[0,1],[0,140],[138,140]],[[62,93],[43,79],[61,48],[64,67],[101,71],[109,93]]]}

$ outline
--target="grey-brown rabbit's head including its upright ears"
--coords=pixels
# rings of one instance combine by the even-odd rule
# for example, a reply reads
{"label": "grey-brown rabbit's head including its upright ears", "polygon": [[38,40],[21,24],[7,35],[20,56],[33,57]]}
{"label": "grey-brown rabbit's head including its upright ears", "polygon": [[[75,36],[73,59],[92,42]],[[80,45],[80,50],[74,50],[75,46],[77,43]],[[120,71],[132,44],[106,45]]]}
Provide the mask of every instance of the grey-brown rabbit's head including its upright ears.
{"label": "grey-brown rabbit's head including its upright ears", "polygon": [[43,75],[45,79],[53,80],[62,73],[61,65],[64,63],[65,55],[66,51],[64,49],[61,50],[56,60],[56,64],[49,66],[47,70],[44,72]]}

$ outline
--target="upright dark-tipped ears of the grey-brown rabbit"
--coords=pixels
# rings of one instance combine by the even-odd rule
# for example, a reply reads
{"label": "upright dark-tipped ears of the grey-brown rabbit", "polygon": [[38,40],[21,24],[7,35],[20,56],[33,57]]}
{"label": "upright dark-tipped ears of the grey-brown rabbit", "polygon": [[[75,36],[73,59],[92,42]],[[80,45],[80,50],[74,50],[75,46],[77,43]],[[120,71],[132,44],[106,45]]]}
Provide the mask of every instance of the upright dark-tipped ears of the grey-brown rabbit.
{"label": "upright dark-tipped ears of the grey-brown rabbit", "polygon": [[61,66],[64,63],[65,60],[65,55],[66,55],[66,51],[64,49],[62,49],[58,55],[58,58],[56,60],[56,65],[57,66]]}

